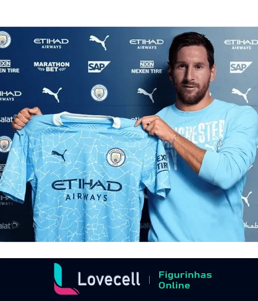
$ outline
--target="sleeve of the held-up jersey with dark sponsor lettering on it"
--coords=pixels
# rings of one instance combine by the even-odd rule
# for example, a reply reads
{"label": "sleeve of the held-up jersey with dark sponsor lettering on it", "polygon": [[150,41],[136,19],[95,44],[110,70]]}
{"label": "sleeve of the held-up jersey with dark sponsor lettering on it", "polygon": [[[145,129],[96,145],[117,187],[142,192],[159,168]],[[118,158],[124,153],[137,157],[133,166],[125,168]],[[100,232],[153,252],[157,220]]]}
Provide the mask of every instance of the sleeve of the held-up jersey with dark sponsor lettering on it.
{"label": "sleeve of the held-up jersey with dark sponsor lettering on it", "polygon": [[145,148],[142,184],[164,200],[170,191],[170,169],[163,142],[151,136]]}

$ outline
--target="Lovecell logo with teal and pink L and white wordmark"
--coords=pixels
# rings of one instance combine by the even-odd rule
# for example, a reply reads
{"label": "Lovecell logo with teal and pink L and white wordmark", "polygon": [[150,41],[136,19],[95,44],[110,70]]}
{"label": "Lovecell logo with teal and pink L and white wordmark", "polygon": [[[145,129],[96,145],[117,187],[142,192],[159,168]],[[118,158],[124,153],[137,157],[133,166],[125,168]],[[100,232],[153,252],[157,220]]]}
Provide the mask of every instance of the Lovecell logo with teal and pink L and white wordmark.
{"label": "Lovecell logo with teal and pink L and white wordmark", "polygon": [[[78,272],[78,286],[139,286],[139,272],[132,272],[131,275],[85,275]],[[62,268],[58,263],[54,263],[54,291],[59,295],[79,295],[76,288],[62,286]]]}

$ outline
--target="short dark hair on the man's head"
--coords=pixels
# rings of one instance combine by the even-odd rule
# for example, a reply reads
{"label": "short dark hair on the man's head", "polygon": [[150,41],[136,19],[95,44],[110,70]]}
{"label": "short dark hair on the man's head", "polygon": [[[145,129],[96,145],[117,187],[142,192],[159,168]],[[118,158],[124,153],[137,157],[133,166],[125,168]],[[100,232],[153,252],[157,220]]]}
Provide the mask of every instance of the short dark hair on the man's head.
{"label": "short dark hair on the man's head", "polygon": [[177,52],[184,46],[204,46],[207,51],[210,68],[214,65],[214,47],[204,34],[198,32],[184,32],[173,38],[169,48],[169,65],[173,67]]}

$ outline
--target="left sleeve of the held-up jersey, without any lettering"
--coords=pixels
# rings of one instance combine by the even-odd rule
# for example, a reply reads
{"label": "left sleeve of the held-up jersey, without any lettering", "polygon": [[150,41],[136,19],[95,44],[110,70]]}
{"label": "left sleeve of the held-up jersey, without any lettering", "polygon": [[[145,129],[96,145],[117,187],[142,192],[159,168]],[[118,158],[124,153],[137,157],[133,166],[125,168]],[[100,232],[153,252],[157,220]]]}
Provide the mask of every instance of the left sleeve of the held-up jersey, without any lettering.
{"label": "left sleeve of the held-up jersey, without any lettering", "polygon": [[0,179],[0,191],[11,200],[24,203],[26,184],[33,177],[32,148],[26,132],[22,129],[14,134]]}

